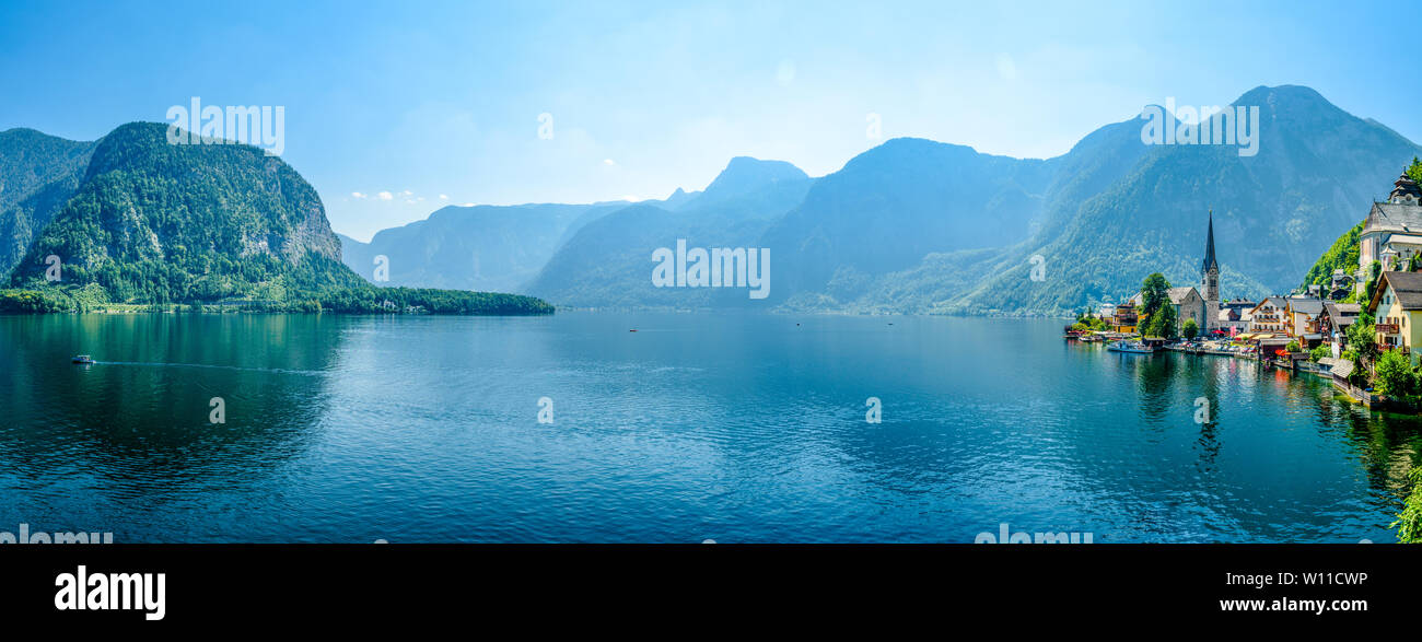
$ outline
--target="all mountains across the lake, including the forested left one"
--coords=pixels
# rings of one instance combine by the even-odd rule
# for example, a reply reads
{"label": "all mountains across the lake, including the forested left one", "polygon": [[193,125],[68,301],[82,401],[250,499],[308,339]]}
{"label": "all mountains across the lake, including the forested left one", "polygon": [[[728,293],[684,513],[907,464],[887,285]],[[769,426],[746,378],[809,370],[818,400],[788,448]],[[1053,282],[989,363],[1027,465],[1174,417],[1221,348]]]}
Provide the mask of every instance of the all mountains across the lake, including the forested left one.
{"label": "all mountains across the lake, including the forested left one", "polygon": [[[381,285],[573,307],[1059,314],[1129,295],[1152,271],[1196,284],[1213,210],[1221,294],[1285,293],[1422,148],[1305,87],[1260,87],[1236,104],[1258,107],[1254,156],[1146,145],[1138,118],[1045,160],[900,138],[822,178],[742,156],[704,192],[444,207],[368,244],[330,234],[294,169],[233,156],[242,148],[164,149],[151,124],[87,143],[11,129],[0,132],[0,268],[18,261],[16,278],[34,278],[55,251],[77,256],[80,274],[108,270],[121,293],[220,297],[262,294],[252,284],[273,274],[301,287],[373,280],[384,254]],[[769,297],[654,287],[653,251],[683,239],[768,249]],[[337,256],[354,274],[299,267]],[[1030,278],[1034,257],[1041,280]]]}

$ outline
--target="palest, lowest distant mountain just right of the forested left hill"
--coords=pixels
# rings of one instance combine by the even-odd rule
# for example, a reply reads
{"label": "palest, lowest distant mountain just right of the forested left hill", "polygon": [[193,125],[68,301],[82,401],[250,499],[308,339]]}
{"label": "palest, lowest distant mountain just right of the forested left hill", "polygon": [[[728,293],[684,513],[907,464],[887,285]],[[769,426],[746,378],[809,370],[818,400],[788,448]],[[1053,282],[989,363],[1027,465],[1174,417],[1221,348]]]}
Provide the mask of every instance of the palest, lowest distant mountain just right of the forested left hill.
{"label": "palest, lowest distant mountain just right of the forested left hill", "polygon": [[572,233],[621,206],[448,206],[370,243],[343,237],[341,260],[371,280],[374,259],[384,256],[390,285],[516,291]]}

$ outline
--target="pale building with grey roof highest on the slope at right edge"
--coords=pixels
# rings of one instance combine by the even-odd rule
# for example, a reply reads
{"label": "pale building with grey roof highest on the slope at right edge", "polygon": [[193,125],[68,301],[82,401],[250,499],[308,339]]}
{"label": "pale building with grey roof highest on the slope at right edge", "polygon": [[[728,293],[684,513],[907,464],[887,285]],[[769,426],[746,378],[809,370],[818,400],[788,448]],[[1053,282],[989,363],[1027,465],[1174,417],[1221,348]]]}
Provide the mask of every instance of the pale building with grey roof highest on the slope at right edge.
{"label": "pale building with grey roof highest on the slope at right edge", "polygon": [[1372,261],[1384,271],[1395,270],[1422,253],[1422,189],[1406,173],[1392,183],[1384,203],[1374,202],[1358,234],[1358,271],[1354,291],[1362,293]]}

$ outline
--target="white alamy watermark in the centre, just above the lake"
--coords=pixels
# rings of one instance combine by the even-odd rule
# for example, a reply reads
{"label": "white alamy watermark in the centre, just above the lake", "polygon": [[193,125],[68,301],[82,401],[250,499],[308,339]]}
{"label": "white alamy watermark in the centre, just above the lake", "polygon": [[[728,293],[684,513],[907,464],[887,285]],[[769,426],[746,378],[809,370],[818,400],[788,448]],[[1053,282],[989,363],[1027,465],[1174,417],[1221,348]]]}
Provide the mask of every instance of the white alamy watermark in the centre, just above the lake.
{"label": "white alamy watermark in the centre, just above the lake", "polygon": [[769,247],[705,247],[687,249],[685,239],[677,239],[677,251],[670,247],[653,250],[653,287],[748,287],[751,298],[771,295]]}

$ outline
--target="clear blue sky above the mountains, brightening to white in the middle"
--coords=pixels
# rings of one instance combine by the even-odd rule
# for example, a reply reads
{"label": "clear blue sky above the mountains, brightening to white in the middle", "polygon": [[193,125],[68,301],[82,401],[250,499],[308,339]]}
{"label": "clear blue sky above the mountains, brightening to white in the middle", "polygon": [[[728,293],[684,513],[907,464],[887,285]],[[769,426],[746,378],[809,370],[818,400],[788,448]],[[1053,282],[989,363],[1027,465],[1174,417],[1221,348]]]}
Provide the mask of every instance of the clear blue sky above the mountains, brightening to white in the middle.
{"label": "clear blue sky above the mountains, brightening to white in the middle", "polygon": [[360,240],[444,205],[660,199],[732,156],[812,176],[897,136],[1065,153],[1148,104],[1298,84],[1422,141],[1398,3],[0,0],[0,131],[282,107]]}

